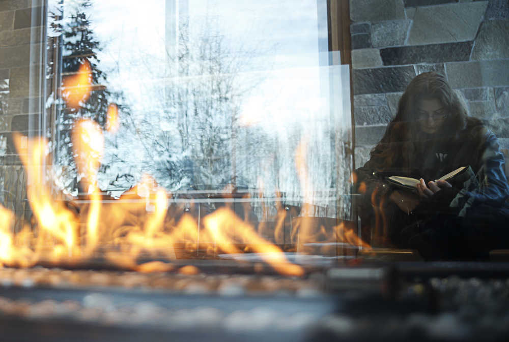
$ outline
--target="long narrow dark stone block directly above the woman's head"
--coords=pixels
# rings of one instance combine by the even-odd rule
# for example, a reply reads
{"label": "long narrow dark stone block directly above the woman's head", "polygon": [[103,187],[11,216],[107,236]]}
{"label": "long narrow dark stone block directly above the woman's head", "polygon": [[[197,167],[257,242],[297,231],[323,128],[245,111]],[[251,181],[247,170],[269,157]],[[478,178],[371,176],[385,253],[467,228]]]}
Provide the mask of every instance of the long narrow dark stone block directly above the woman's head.
{"label": "long narrow dark stone block directly above the woman's head", "polygon": [[473,42],[399,46],[380,49],[386,66],[418,63],[466,61],[470,58]]}

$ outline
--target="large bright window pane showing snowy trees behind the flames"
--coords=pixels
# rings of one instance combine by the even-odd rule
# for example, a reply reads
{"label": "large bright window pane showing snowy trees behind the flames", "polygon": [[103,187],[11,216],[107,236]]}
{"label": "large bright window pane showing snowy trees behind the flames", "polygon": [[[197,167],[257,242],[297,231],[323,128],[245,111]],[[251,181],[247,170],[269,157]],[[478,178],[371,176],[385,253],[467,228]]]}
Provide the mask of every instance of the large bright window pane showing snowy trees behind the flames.
{"label": "large bright window pane showing snowy trees behind the flames", "polygon": [[106,127],[116,104],[104,192],[118,197],[148,173],[175,194],[229,187],[349,215],[349,74],[329,63],[325,1],[82,3],[64,3],[63,76],[86,59],[94,84],[80,106],[64,92],[59,163],[72,163],[72,123]]}

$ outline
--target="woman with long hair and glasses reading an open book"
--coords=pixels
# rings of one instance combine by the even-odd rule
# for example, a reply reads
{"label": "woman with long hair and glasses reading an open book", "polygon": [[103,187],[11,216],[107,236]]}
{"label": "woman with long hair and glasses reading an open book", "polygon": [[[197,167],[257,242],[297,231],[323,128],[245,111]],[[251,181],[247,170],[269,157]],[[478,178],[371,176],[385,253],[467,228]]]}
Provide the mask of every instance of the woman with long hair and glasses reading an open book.
{"label": "woman with long hair and glasses reading an open book", "polygon": [[[435,181],[462,166],[470,169],[461,182]],[[467,116],[440,74],[410,82],[371,159],[356,174],[363,226],[386,243],[416,248],[429,259],[485,257],[507,245],[501,240],[508,236],[509,188],[497,139]],[[386,181],[391,175],[419,179],[417,192],[394,188]]]}

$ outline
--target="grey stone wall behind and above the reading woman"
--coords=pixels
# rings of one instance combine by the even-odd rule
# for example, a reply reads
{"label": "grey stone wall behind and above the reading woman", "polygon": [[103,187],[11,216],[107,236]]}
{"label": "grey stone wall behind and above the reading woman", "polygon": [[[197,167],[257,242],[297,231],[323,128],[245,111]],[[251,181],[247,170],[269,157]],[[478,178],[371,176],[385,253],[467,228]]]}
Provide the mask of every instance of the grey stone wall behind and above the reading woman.
{"label": "grey stone wall behind and above the reading woman", "polygon": [[350,0],[356,167],[416,75],[437,71],[509,145],[507,0]]}

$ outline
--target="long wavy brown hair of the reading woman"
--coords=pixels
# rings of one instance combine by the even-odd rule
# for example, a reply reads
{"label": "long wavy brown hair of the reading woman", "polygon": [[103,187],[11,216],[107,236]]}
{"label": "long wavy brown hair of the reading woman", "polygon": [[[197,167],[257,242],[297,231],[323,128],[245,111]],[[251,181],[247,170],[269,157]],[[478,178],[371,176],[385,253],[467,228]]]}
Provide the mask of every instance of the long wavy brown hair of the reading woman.
{"label": "long wavy brown hair of the reading woman", "polygon": [[427,72],[415,77],[398,104],[395,117],[387,126],[384,136],[371,151],[371,160],[378,161],[377,169],[390,168],[397,163],[406,167],[412,163],[412,157],[422,146],[423,140],[430,136],[423,133],[418,123],[418,106],[421,100],[437,99],[447,110],[447,116],[433,139],[454,141],[467,125],[480,124],[480,121],[468,117],[464,101],[450,87],[444,76],[436,72]]}

